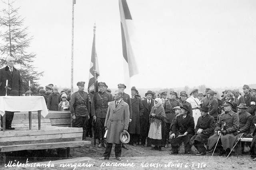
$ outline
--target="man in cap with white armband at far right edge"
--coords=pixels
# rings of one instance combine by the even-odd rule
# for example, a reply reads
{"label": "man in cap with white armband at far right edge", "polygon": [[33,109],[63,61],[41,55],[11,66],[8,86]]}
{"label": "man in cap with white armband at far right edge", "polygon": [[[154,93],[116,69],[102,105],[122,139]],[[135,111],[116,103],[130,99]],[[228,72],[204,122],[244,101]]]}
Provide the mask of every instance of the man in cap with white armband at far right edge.
{"label": "man in cap with white armband at far right edge", "polygon": [[246,104],[246,106],[248,107],[248,109],[246,109],[246,111],[253,116],[254,109],[256,106],[256,98],[254,96],[252,96],[252,94],[250,94],[249,88],[250,87],[247,84],[244,84],[244,86],[243,86],[244,96],[242,96],[238,99],[237,105],[239,106],[241,103]]}

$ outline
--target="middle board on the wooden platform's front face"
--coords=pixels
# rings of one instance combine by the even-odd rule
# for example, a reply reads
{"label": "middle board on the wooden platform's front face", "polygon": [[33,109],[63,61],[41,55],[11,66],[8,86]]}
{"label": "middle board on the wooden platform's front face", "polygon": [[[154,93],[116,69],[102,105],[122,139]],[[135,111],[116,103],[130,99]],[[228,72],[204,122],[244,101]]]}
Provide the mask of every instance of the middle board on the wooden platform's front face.
{"label": "middle board on the wooden platform's front face", "polygon": [[81,137],[82,134],[83,133],[80,132],[80,133],[62,133],[62,134],[53,134],[53,135],[32,135],[32,136],[22,136],[22,137],[3,137],[3,138],[1,137],[0,142],[72,138],[72,137]]}

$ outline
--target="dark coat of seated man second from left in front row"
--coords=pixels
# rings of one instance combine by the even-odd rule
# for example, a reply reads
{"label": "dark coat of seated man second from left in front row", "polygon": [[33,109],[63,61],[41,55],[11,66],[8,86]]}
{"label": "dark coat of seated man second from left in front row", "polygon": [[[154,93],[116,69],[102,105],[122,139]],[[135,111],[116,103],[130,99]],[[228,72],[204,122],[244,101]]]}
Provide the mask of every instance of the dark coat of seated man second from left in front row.
{"label": "dark coat of seated man second from left in front row", "polygon": [[[195,129],[195,134],[191,139],[190,139],[190,144],[194,144],[194,141],[198,141],[201,143],[204,143],[213,133],[215,127],[215,121],[214,117],[212,117],[209,114],[206,114],[204,119],[202,116],[198,118],[198,121],[196,123],[196,129]],[[197,134],[198,129],[203,129],[202,133]]]}

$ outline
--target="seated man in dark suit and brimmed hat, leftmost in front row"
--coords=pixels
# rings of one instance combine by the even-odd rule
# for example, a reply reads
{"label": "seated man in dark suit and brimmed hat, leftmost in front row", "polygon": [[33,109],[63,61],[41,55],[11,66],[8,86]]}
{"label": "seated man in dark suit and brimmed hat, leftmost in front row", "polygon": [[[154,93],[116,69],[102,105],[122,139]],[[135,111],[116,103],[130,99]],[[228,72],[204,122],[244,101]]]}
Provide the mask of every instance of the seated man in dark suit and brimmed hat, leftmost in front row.
{"label": "seated man in dark suit and brimmed hat, leftmost in front row", "polygon": [[178,154],[178,148],[184,142],[185,154],[191,153],[189,141],[194,135],[194,118],[189,115],[190,108],[184,105],[181,108],[181,115],[179,115],[172,126],[172,135],[170,136],[172,152],[170,154]]}

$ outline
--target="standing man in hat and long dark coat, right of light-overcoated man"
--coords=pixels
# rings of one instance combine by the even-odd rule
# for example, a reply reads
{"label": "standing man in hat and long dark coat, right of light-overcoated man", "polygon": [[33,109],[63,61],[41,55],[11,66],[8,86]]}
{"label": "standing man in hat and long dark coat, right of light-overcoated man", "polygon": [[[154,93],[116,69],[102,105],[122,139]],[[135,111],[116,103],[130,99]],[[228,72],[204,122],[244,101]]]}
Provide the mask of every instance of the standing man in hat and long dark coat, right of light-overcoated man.
{"label": "standing man in hat and long dark coat, right of light-overcoated man", "polygon": [[138,90],[135,87],[131,89],[131,101],[132,101],[132,121],[129,123],[128,132],[130,133],[130,140],[132,146],[136,147],[136,142],[140,135],[140,117],[143,115],[144,107],[142,101],[136,95]]}

